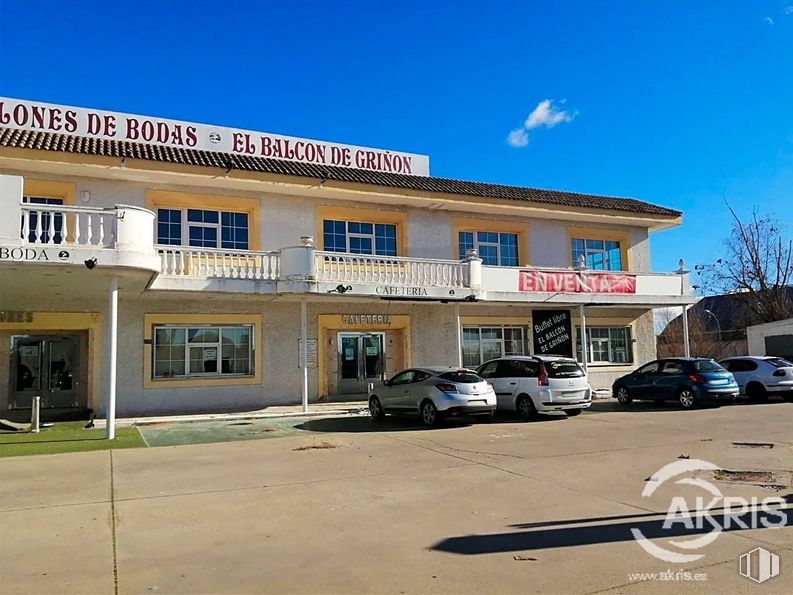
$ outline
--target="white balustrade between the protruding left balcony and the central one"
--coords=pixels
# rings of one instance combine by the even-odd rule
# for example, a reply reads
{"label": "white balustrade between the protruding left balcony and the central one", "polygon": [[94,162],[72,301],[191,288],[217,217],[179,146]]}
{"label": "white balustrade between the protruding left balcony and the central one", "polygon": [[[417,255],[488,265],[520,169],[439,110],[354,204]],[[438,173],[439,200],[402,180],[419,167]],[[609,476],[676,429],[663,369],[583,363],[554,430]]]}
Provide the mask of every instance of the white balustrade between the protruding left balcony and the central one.
{"label": "white balustrade between the protruding left balcony and the central one", "polygon": [[212,248],[157,246],[160,273],[222,279],[278,278],[278,252],[240,252]]}

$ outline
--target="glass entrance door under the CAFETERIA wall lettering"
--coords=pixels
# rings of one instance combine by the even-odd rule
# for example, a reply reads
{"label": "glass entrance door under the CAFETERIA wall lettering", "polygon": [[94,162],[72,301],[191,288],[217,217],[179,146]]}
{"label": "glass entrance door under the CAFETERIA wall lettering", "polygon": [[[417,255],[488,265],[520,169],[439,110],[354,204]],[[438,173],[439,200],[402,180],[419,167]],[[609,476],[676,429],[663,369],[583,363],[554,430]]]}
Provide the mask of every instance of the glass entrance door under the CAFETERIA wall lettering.
{"label": "glass entrance door under the CAFETERIA wall lettering", "polygon": [[383,378],[384,333],[339,333],[339,392],[365,393]]}

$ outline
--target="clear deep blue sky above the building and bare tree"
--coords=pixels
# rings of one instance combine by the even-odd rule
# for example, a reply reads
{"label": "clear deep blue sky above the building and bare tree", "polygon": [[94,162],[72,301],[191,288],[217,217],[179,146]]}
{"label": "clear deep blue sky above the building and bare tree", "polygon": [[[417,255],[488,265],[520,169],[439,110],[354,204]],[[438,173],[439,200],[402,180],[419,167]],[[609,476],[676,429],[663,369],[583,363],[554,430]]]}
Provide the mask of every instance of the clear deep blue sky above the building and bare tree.
{"label": "clear deep blue sky above the building and bare tree", "polygon": [[[659,271],[718,257],[725,198],[793,219],[791,56],[793,0],[0,0],[0,95],[662,204],[685,215],[653,236]],[[511,146],[546,99],[567,117]]]}

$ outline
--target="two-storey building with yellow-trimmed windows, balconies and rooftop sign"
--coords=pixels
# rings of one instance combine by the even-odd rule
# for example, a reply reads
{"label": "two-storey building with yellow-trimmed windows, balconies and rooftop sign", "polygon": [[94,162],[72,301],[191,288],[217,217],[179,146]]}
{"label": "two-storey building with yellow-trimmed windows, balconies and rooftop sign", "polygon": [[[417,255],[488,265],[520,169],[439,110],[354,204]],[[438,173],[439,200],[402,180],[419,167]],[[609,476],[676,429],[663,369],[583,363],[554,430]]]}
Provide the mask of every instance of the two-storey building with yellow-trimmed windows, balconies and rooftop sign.
{"label": "two-storey building with yellow-trimmed windows, balconies and rooftop sign", "polygon": [[652,308],[694,302],[682,267],[650,270],[650,233],[681,221],[664,207],[0,106],[0,417],[33,396],[125,416],[350,400],[406,367],[533,352],[605,387],[655,357]]}

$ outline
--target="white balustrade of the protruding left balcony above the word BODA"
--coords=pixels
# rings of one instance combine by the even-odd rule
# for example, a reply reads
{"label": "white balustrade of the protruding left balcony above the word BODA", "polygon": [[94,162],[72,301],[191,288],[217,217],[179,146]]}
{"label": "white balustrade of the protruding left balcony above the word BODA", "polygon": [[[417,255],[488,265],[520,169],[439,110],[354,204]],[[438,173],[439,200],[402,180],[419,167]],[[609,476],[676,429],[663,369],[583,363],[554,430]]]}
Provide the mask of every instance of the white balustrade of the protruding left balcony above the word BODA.
{"label": "white balustrade of the protruding left balcony above the word BODA", "polygon": [[23,203],[21,237],[29,244],[112,248],[118,210]]}

